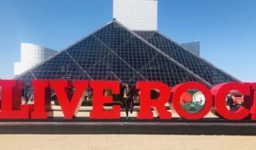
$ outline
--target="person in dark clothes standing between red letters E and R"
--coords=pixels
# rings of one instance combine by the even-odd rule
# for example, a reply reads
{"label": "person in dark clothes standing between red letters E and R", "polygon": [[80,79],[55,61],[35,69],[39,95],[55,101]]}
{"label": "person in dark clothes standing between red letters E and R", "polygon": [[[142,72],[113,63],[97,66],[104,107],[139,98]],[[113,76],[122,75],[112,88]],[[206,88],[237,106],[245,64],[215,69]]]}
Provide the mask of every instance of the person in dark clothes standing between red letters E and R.
{"label": "person in dark clothes standing between red letters E and R", "polygon": [[123,96],[123,102],[125,105],[125,113],[126,113],[126,119],[129,118],[128,112],[129,108],[131,109],[131,113],[133,111],[132,109],[132,93],[131,93],[131,86],[130,84],[125,84],[125,89],[124,89],[124,96]]}

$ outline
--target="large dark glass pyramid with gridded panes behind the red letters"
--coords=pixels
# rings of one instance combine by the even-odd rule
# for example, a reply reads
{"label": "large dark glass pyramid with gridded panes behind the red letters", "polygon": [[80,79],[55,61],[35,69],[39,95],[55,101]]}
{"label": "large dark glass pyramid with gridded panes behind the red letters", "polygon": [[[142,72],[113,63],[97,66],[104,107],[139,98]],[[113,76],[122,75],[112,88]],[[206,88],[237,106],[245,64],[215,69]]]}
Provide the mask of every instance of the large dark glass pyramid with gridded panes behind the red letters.
{"label": "large dark glass pyramid with gridded panes behind the red letters", "polygon": [[238,81],[159,32],[133,32],[113,20],[78,43],[16,79],[160,81],[170,87],[187,81]]}

